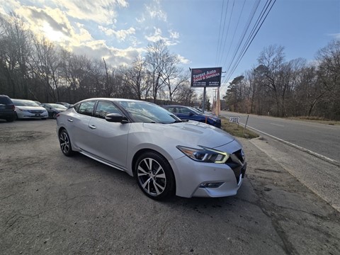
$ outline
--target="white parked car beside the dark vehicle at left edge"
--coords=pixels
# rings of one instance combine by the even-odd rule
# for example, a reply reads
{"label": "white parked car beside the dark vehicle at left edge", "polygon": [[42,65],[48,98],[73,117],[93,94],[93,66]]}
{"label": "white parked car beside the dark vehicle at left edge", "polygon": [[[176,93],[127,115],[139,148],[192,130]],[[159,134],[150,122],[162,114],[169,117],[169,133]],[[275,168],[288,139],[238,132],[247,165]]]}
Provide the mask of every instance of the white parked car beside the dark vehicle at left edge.
{"label": "white parked car beside the dark vehicle at left edge", "polygon": [[16,106],[16,115],[18,119],[41,118],[45,120],[48,117],[47,110],[38,103],[25,99],[13,99],[12,102]]}

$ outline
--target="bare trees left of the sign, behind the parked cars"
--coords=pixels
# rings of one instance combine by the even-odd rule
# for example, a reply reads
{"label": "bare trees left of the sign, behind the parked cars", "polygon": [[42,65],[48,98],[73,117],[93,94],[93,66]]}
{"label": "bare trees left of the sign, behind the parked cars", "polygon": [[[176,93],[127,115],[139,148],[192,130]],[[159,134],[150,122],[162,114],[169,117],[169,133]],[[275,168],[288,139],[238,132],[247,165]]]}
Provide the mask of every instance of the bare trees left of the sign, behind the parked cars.
{"label": "bare trees left of the sign, behind the parked cars", "polygon": [[0,17],[0,94],[40,102],[76,103],[85,98],[116,97],[196,101],[189,72],[166,42],[148,45],[145,55],[130,66],[111,67],[103,58],[75,55],[46,38],[34,35],[21,18],[11,13]]}

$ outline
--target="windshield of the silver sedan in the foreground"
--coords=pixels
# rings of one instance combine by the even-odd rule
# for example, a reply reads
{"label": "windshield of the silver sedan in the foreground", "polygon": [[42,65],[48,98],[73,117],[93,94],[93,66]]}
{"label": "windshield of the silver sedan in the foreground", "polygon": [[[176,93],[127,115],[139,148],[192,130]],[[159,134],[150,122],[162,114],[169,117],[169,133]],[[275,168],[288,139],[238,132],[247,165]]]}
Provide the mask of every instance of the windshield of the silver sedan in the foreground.
{"label": "windshield of the silver sedan in the foreground", "polygon": [[118,101],[118,103],[136,122],[164,124],[181,122],[174,114],[154,103],[143,101]]}

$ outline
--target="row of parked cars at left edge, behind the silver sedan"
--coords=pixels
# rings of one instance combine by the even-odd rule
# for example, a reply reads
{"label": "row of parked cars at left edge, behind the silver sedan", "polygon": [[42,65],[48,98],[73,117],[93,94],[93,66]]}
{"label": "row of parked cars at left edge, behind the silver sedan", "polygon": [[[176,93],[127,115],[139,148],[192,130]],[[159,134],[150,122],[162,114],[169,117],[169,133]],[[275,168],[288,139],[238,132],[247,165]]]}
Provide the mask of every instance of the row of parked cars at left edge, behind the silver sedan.
{"label": "row of parked cars at left edge, behind the silver sedan", "polygon": [[57,114],[66,111],[69,103],[40,103],[25,99],[14,99],[0,95],[0,119],[11,122],[26,118],[57,118]]}

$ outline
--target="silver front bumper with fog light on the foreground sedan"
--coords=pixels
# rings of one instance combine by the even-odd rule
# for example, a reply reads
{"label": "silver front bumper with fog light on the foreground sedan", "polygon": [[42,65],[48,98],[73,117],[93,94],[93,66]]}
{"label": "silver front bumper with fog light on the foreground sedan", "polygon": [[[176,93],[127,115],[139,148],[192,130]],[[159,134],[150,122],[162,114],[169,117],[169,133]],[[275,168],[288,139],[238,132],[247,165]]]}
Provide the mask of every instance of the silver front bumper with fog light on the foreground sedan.
{"label": "silver front bumper with fog light on the foreground sedan", "polygon": [[[186,156],[170,164],[176,178],[176,196],[185,198],[234,196],[246,172],[246,163],[232,169],[227,164],[196,162]],[[210,188],[208,183],[217,183],[217,187]]]}

